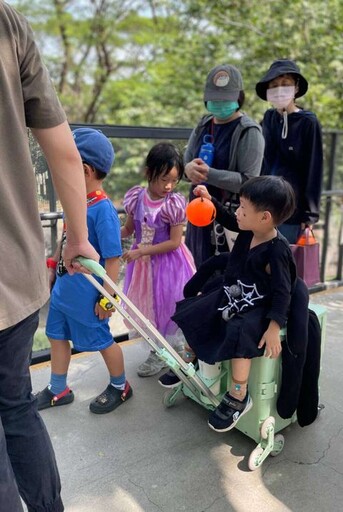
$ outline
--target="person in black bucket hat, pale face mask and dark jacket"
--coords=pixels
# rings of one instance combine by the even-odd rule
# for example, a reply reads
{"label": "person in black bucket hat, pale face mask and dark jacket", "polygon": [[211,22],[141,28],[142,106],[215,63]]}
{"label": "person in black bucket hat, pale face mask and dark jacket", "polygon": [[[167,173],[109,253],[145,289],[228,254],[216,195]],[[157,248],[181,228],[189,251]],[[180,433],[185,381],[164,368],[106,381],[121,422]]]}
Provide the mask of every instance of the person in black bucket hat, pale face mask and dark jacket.
{"label": "person in black bucket hat, pale face mask and dark jacket", "polygon": [[301,232],[319,218],[323,175],[323,145],[320,124],[313,112],[302,109],[296,98],[304,96],[307,80],[297,64],[276,60],[256,84],[257,95],[269,101],[262,121],[266,142],[262,174],[283,176],[296,195],[296,211],[281,233],[296,243]]}

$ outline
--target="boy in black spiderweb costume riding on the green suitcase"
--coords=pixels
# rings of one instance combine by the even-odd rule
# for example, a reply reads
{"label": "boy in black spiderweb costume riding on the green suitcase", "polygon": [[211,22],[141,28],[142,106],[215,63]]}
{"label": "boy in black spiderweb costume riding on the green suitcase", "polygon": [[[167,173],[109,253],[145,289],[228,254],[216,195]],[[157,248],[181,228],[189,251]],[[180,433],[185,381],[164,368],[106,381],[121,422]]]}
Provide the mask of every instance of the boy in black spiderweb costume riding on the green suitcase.
{"label": "boy in black spiderweb costume riding on the green suitcase", "polygon": [[[213,430],[226,432],[252,407],[247,386],[251,359],[276,358],[281,352],[280,330],[287,320],[296,270],[289,244],[276,226],[292,215],[295,199],[289,183],[275,176],[244,183],[235,214],[205,186],[196,187],[195,194],[211,199],[216,220],[239,232],[222,278],[205,293],[178,303],[173,316],[193,357],[209,364],[232,360],[230,390],[208,421]],[[159,382],[171,387],[168,375]]]}

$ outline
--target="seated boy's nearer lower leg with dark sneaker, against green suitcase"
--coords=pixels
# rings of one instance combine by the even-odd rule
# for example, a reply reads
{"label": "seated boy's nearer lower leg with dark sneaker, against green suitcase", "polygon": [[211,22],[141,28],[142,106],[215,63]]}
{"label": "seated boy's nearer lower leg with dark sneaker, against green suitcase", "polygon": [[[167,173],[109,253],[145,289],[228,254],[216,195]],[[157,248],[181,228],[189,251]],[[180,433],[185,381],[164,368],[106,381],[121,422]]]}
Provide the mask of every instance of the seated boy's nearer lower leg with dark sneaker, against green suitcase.
{"label": "seated boy's nearer lower leg with dark sneaker, against green suitcase", "polygon": [[225,393],[218,407],[210,414],[208,425],[216,432],[231,430],[252,407],[248,393],[250,359],[232,359],[230,391]]}

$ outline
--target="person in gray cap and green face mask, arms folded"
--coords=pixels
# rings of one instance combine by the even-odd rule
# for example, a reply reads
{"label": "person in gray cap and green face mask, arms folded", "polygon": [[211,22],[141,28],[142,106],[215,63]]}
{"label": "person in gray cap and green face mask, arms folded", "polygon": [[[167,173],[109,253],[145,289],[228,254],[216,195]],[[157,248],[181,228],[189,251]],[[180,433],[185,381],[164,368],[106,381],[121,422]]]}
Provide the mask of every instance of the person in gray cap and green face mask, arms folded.
{"label": "person in gray cap and green face mask, arms folded", "polygon": [[[241,111],[242,76],[229,64],[211,69],[206,78],[204,104],[208,111],[193,130],[184,155],[185,175],[193,189],[206,184],[211,196],[229,207],[238,205],[239,189],[261,170],[264,139],[260,126]],[[213,254],[227,251],[231,235],[219,224],[198,228],[188,223],[186,244],[196,266]]]}

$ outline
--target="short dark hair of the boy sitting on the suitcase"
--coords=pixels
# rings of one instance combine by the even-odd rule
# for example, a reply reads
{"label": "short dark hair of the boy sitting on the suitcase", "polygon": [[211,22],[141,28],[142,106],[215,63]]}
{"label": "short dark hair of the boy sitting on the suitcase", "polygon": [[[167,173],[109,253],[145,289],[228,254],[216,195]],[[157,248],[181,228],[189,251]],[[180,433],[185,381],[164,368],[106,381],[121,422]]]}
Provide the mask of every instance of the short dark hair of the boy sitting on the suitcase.
{"label": "short dark hair of the boy sitting on the suitcase", "polygon": [[290,183],[279,176],[248,179],[239,195],[251,201],[258,211],[269,211],[275,226],[287,220],[295,210],[295,195]]}

